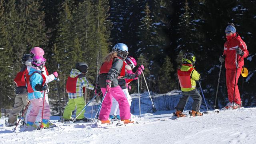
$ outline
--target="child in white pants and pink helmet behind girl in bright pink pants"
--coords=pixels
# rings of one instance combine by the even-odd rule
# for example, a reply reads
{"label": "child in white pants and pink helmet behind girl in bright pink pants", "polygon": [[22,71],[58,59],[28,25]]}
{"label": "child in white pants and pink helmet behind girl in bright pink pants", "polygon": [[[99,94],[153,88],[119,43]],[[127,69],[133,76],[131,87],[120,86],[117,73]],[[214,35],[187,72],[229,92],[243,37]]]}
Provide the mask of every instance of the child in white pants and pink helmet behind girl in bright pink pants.
{"label": "child in white pants and pink helmet behind girl in bright pink pants", "polygon": [[[138,67],[136,72],[132,72],[132,70],[137,66],[137,62],[135,58],[128,56],[126,58],[126,65],[125,65],[125,76],[118,79],[118,85],[122,88],[122,91],[124,92],[124,95],[126,96],[129,106],[131,106],[132,103],[132,97],[130,96],[128,90],[131,89],[130,85],[128,85],[132,80],[137,80],[138,76],[140,76],[142,70],[144,70],[144,66],[141,65]],[[132,114],[131,114],[132,116]],[[119,105],[118,102],[112,98],[112,107],[110,111],[110,120],[118,119],[120,120],[120,111],[119,111]]]}

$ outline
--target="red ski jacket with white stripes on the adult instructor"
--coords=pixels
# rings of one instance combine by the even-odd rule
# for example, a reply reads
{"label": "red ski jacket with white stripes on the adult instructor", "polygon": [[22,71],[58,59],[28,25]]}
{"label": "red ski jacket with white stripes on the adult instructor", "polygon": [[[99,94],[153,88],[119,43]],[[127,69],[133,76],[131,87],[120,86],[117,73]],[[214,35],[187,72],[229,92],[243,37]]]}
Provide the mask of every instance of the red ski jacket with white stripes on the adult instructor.
{"label": "red ski jacket with white stripes on the adult instructor", "polygon": [[[244,66],[244,58],[249,54],[245,42],[241,39],[238,33],[234,33],[232,36],[226,36],[227,41],[224,44],[225,56],[225,67],[226,68],[236,68],[236,60],[238,58],[238,68]],[[236,54],[236,48],[241,48],[244,52],[243,56]]]}

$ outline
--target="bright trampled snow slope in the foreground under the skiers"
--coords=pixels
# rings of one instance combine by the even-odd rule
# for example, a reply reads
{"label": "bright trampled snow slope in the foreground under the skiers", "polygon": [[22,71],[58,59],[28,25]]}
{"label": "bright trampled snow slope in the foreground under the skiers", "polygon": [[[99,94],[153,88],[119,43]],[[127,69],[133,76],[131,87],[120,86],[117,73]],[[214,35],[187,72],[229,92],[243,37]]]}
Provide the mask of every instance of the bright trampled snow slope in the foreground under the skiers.
{"label": "bright trampled snow slope in the foreground under the skiers", "polygon": [[[255,144],[256,108],[211,112],[172,120],[173,111],[158,111],[136,118],[136,126],[89,128],[90,123],[51,121],[55,128],[12,132],[0,119],[0,144]],[[187,111],[186,111],[187,112]],[[54,120],[55,119],[55,120]],[[152,124],[143,124],[143,123]],[[18,128],[17,130],[20,130]]]}

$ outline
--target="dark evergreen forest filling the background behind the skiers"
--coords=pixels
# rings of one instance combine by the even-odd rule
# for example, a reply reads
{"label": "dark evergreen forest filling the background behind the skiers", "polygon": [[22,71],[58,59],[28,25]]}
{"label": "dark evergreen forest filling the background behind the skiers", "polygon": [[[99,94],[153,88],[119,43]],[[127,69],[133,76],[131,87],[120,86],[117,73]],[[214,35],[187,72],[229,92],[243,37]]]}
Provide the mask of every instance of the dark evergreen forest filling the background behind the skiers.
{"label": "dark evergreen forest filling the background behind the skiers", "polygon": [[[230,23],[249,51],[244,59],[248,77],[238,80],[243,106],[256,106],[256,0],[0,0],[0,108],[12,108],[14,77],[33,47],[44,50],[49,73],[59,74],[60,81],[49,84],[49,100],[58,111],[58,94],[64,107],[66,80],[75,64],[88,64],[86,78],[94,84],[105,56],[119,42],[144,65],[149,89],[156,94],[180,89],[177,69],[182,55],[192,52],[212,107]],[[228,102],[225,70],[223,64],[219,106]],[[132,82],[130,94],[137,90]],[[86,90],[86,102],[93,94]]]}

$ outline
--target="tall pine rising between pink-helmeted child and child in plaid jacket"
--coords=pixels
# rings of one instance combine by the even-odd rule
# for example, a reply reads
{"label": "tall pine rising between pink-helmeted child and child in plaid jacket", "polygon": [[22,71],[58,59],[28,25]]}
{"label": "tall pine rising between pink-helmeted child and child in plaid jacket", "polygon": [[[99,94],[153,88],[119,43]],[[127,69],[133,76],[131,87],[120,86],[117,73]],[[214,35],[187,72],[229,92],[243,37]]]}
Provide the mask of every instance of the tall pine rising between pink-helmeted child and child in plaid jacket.
{"label": "tall pine rising between pink-helmeted child and child in plaid jacket", "polygon": [[[70,58],[74,43],[74,33],[71,31],[72,15],[68,1],[64,1],[60,5],[59,24],[56,32],[56,43],[52,54],[52,67],[58,71],[60,78],[60,89],[65,98],[66,95],[66,79],[70,70],[74,68],[74,61]],[[71,62],[70,62],[71,61]]]}

